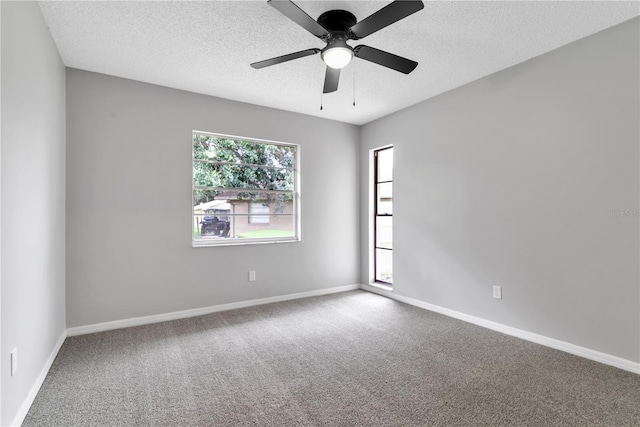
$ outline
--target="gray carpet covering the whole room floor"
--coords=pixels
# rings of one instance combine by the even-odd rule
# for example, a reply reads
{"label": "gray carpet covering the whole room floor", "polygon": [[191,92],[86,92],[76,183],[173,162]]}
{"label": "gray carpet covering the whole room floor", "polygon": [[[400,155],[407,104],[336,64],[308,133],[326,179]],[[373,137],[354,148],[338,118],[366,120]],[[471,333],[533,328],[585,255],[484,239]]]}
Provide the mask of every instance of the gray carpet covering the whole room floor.
{"label": "gray carpet covering the whole room floor", "polygon": [[640,376],[354,291],[68,338],[24,426],[640,426]]}

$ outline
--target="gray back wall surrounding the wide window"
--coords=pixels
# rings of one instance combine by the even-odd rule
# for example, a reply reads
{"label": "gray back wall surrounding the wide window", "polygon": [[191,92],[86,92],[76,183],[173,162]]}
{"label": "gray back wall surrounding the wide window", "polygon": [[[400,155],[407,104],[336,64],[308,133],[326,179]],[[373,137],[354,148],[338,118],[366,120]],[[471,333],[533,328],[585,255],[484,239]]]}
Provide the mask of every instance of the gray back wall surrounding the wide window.
{"label": "gray back wall surrounding the wide window", "polygon": [[[67,119],[69,327],[358,283],[357,126],[75,69]],[[301,145],[302,242],[191,247],[192,130]]]}

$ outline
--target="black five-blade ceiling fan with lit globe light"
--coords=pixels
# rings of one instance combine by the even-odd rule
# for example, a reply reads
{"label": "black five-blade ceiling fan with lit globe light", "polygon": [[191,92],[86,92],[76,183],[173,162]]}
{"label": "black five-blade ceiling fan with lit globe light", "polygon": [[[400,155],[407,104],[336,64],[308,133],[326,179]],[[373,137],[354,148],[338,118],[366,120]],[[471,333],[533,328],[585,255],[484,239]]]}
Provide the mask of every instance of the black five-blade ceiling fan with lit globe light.
{"label": "black five-blade ceiling fan with lit globe light", "polygon": [[354,56],[404,74],[409,74],[418,66],[415,61],[373,47],[365,45],[351,47],[347,41],[367,37],[421,10],[424,8],[421,0],[396,0],[360,22],[351,12],[346,10],[329,10],[320,15],[318,21],[314,21],[290,0],[269,0],[268,2],[284,16],[327,45],[324,49],[311,48],[254,62],[251,64],[253,68],[269,67],[320,53],[322,60],[327,64],[323,93],[330,93],[338,89],[340,69],[347,66]]}

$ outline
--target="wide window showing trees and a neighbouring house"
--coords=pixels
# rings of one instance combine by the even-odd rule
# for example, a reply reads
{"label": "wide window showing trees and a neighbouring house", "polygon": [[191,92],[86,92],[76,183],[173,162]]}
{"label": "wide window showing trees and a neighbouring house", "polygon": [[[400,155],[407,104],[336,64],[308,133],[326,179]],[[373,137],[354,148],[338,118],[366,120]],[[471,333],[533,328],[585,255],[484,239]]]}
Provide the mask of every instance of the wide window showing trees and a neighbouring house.
{"label": "wide window showing trees and a neighbouring house", "polygon": [[299,240],[298,146],[193,133],[194,246]]}

